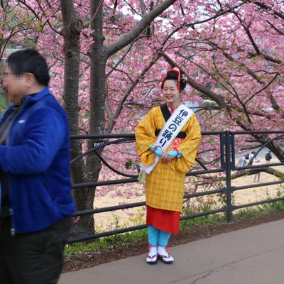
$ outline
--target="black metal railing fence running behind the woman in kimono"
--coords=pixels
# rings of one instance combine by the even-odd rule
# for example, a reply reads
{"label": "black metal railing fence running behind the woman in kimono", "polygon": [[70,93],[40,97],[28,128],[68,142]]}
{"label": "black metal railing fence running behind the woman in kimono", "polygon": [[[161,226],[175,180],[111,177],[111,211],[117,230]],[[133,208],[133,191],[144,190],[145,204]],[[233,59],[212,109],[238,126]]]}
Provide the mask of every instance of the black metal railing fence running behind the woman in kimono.
{"label": "black metal railing fence running behind the woman in kimono", "polygon": [[[249,137],[256,137],[261,136],[262,142],[259,141],[251,141]],[[219,207],[217,209],[212,209],[205,212],[199,212],[197,214],[189,214],[186,216],[181,217],[181,221],[185,219],[193,219],[196,217],[201,217],[209,214],[217,214],[217,213],[224,213],[226,214],[227,222],[231,221],[232,213],[241,208],[245,207],[252,207],[260,204],[265,204],[269,202],[277,202],[280,200],[284,200],[284,197],[278,197],[278,198],[269,198],[267,200],[261,200],[258,202],[251,202],[247,204],[240,204],[236,205],[234,202],[232,202],[232,194],[239,190],[246,190],[249,188],[254,187],[264,187],[264,186],[270,186],[270,185],[280,185],[284,181],[283,180],[277,180],[274,182],[263,182],[263,183],[257,183],[257,184],[251,184],[251,185],[245,185],[245,186],[232,186],[231,180],[232,176],[235,175],[235,173],[246,173],[247,170],[257,170],[268,168],[272,166],[281,166],[284,163],[270,163],[268,164],[261,164],[261,165],[247,165],[244,167],[238,167],[236,166],[236,158],[238,158],[239,151],[236,149],[239,148],[238,143],[239,141],[242,141],[242,143],[246,143],[246,147],[241,149],[241,152],[244,152],[245,149],[248,151],[248,149],[256,149],[255,154],[253,158],[256,158],[260,153],[263,153],[263,151],[267,151],[267,149],[277,149],[275,148],[275,143],[281,146],[284,139],[284,132],[283,131],[238,131],[238,132],[231,132],[231,131],[212,131],[212,132],[202,132],[202,141],[207,141],[212,139],[214,137],[214,145],[210,149],[210,151],[203,151],[202,153],[199,153],[196,158],[196,165],[190,173],[187,173],[188,176],[202,176],[202,175],[212,175],[212,174],[218,174],[221,173],[223,175],[224,179],[224,186],[221,186],[217,188],[216,190],[207,190],[203,192],[193,192],[191,194],[186,194],[184,196],[185,200],[190,200],[193,197],[202,197],[204,195],[216,195],[216,194],[222,194],[225,196],[225,204],[222,205],[222,207]],[[263,139],[263,137],[266,137]],[[101,148],[107,148],[109,147],[111,149],[111,146],[114,145],[123,145],[123,144],[129,144],[133,143],[135,146],[135,136],[134,134],[103,134],[103,135],[74,135],[71,136],[71,139],[80,139],[80,140],[87,140],[92,139],[94,141],[94,148],[89,149],[85,153],[82,153],[82,155],[78,156],[74,160],[71,161],[71,163],[75,163],[76,160],[79,160],[81,158],[84,158],[85,155],[89,153],[96,153],[100,160],[102,160],[102,163],[109,168],[113,173],[116,173],[116,175],[119,175],[121,178],[114,179],[114,180],[101,180],[97,182],[89,182],[89,183],[79,183],[73,185],[73,189],[80,190],[80,188],[85,187],[99,187],[104,185],[118,185],[118,184],[126,184],[126,183],[132,183],[132,182],[138,182],[138,173],[127,173],[121,168],[117,168],[116,166],[111,165],[109,163],[109,160],[113,160],[112,157],[106,158],[104,155],[99,154],[99,149]],[[248,141],[247,141],[248,140]],[[202,143],[202,142],[201,142]],[[131,151],[135,152],[135,148],[132,146]],[[125,147],[127,148],[127,147]],[[211,155],[214,156],[213,160],[210,160],[210,153],[212,151],[216,151],[218,155]],[[276,150],[277,151],[277,150]],[[274,151],[275,152],[275,151]],[[111,150],[110,150],[111,153]],[[135,154],[131,153],[131,157],[135,157]],[[216,158],[218,156],[218,158]],[[278,153],[278,158],[281,156],[281,153]],[[281,158],[280,160],[284,160]],[[121,165],[124,165],[124,161],[121,161]],[[126,167],[127,168],[127,167]],[[99,209],[88,209],[80,212],[76,212],[74,214],[74,217],[77,216],[84,216],[89,214],[99,214],[102,212],[114,212],[116,210],[120,209],[129,209],[134,207],[143,207],[145,205],[145,202],[136,202],[131,204],[123,204],[118,206],[111,206],[111,207],[104,207]],[[129,231],[135,231],[138,229],[146,228],[146,225],[142,224],[139,226],[130,226],[124,229],[116,229],[111,231],[104,231],[102,233],[98,234],[92,234],[92,235],[86,235],[86,236],[80,236],[77,238],[70,239],[68,242],[75,243],[79,241],[87,241],[90,239],[97,239],[104,236],[111,236],[115,234],[121,234]]]}

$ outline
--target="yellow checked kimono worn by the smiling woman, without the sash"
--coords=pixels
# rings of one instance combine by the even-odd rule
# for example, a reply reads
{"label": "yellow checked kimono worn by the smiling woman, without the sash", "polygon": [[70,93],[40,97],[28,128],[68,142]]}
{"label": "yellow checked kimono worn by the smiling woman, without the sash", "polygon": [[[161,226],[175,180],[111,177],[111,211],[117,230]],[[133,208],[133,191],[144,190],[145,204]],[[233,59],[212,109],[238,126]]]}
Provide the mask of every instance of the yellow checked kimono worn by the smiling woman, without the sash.
{"label": "yellow checked kimono worn by the smiling woman, without the sash", "polygon": [[[156,129],[163,129],[165,119],[160,107],[154,107],[141,120],[136,127],[136,150],[143,165],[151,165],[155,160],[155,153],[149,148],[155,143]],[[195,163],[197,147],[200,143],[201,133],[195,114],[187,121],[181,131],[186,133],[178,150],[182,153],[180,158],[173,158],[170,162],[161,160],[153,171],[146,174],[146,205],[170,211],[182,211],[182,200],[185,189],[185,174]],[[172,150],[168,148],[167,151]]]}

